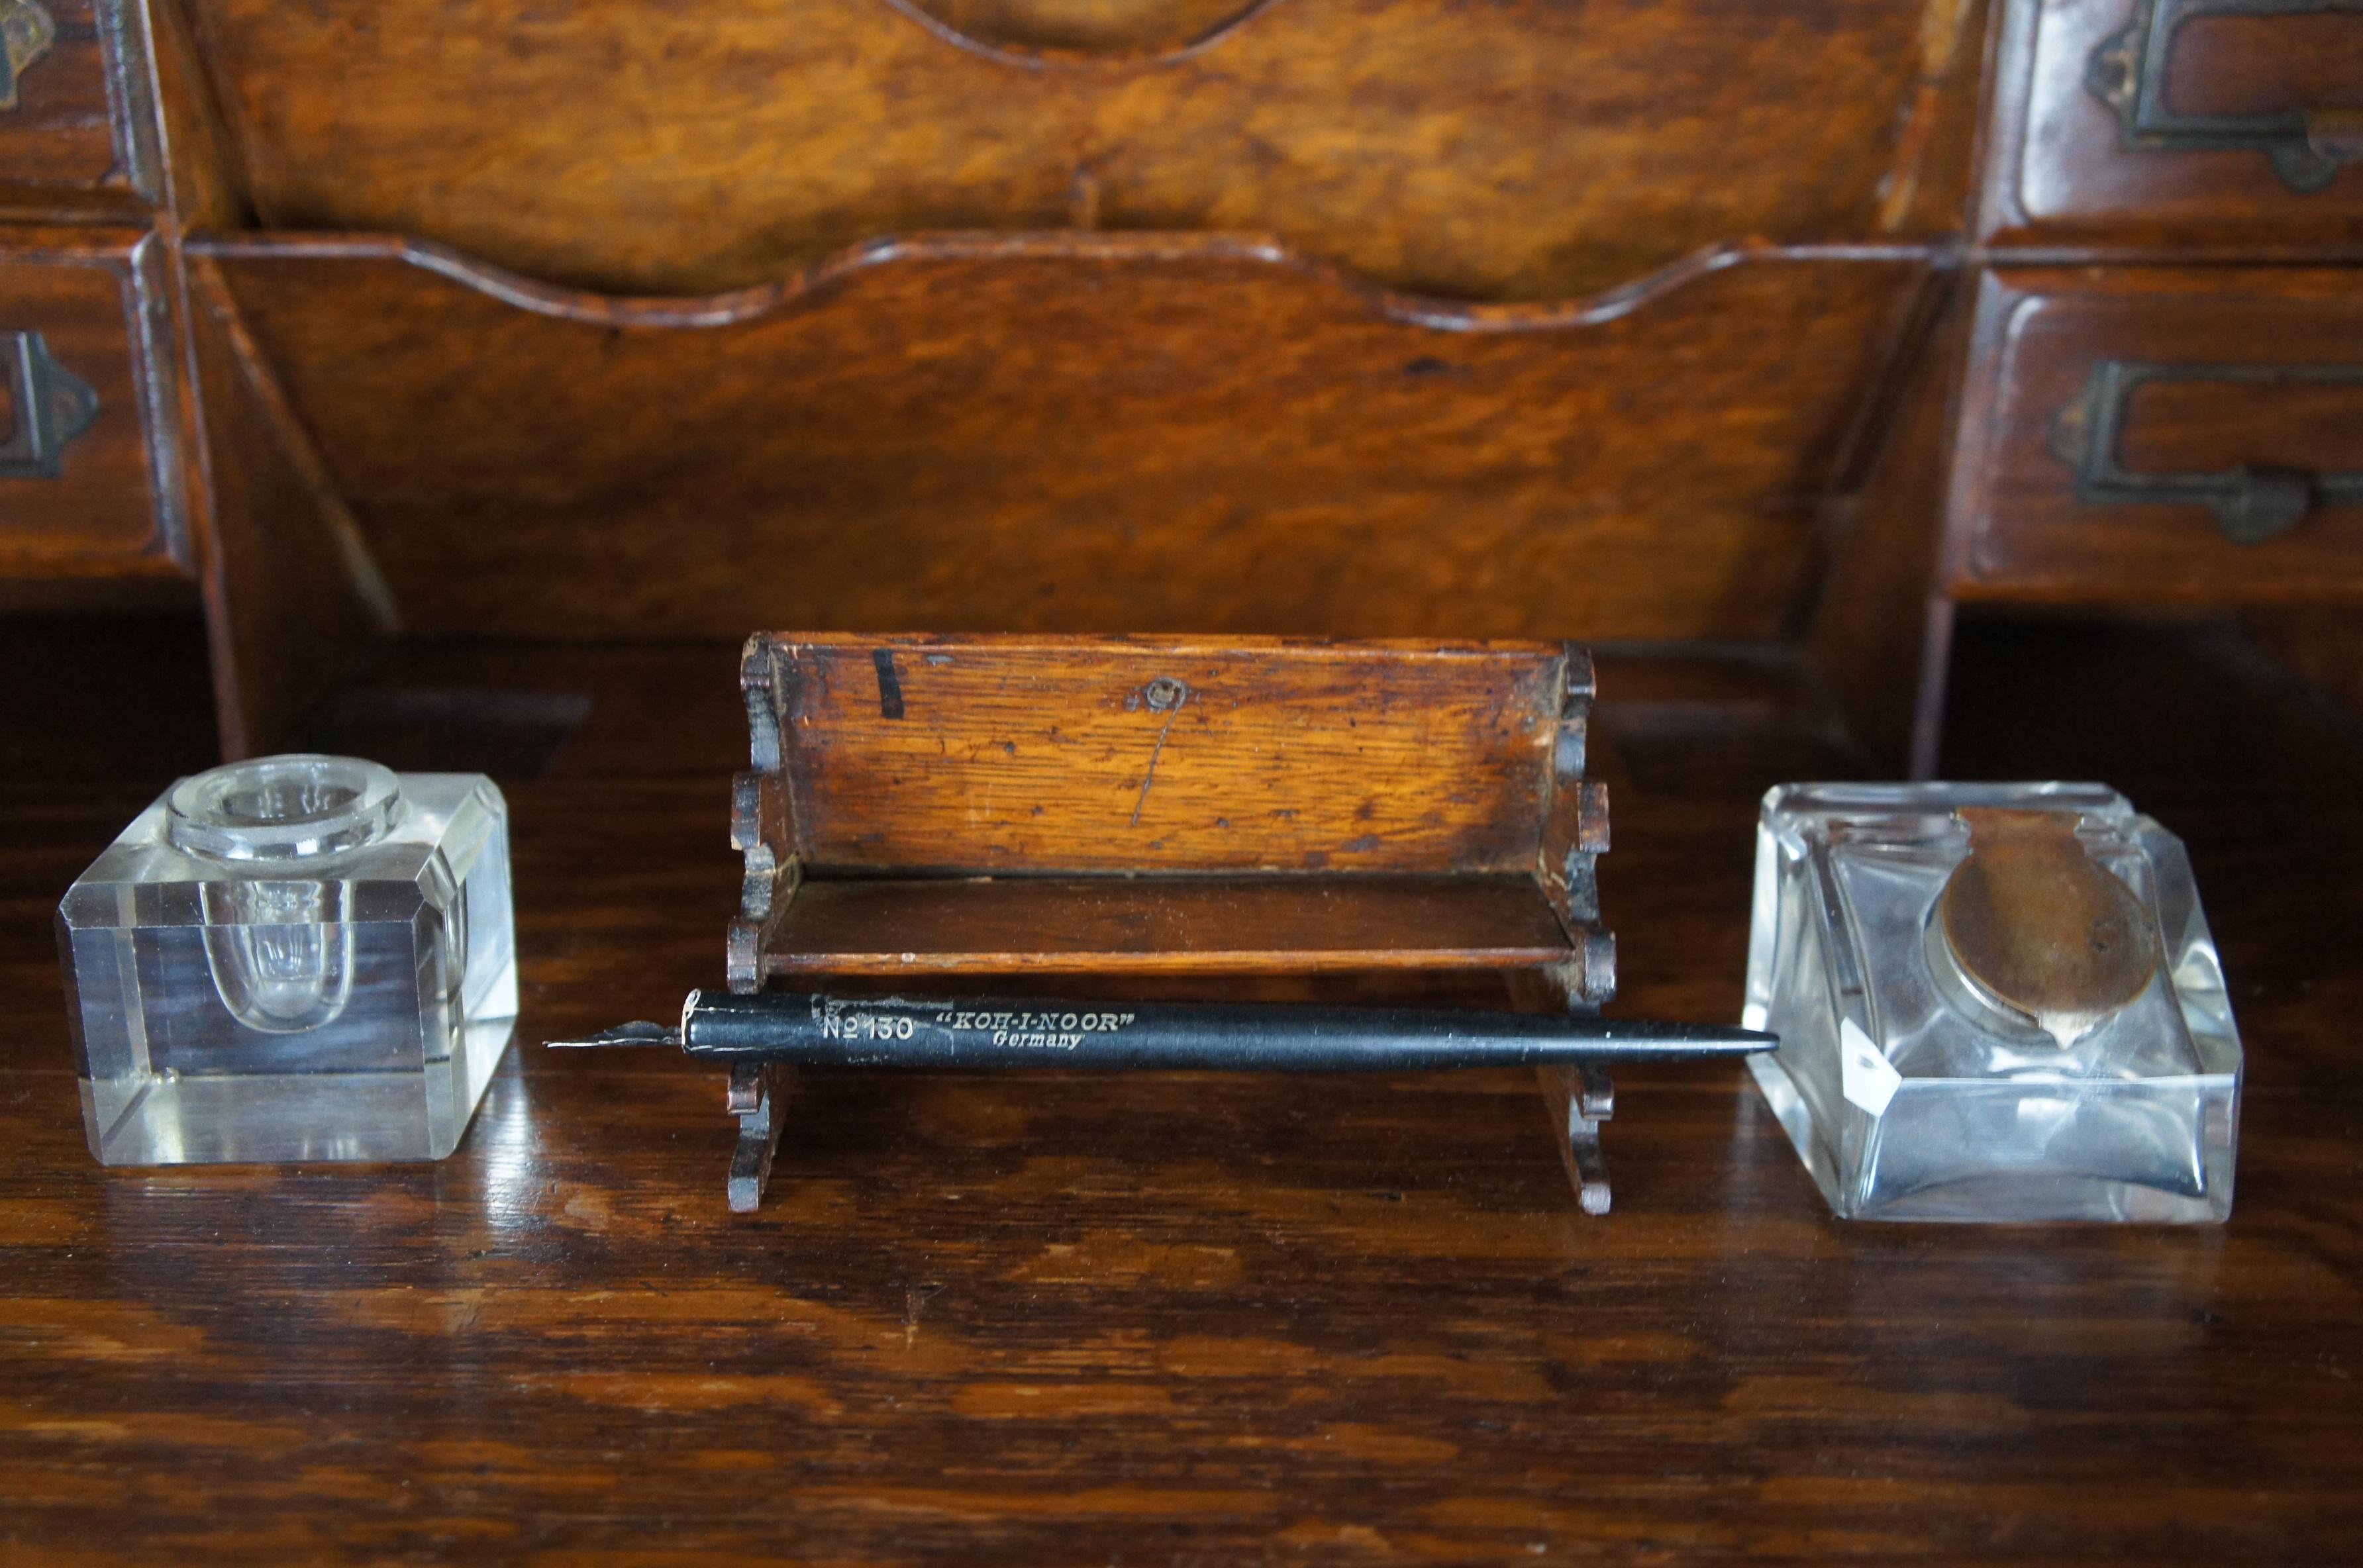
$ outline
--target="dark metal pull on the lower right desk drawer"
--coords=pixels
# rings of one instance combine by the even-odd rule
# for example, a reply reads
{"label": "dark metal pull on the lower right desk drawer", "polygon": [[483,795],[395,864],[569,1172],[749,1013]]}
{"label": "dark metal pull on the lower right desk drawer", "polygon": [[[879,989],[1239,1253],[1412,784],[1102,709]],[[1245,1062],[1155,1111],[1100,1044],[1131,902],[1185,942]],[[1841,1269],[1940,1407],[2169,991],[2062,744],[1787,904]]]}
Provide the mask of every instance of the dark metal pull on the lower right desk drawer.
{"label": "dark metal pull on the lower right desk drawer", "polygon": [[2212,472],[2139,475],[2124,468],[2124,406],[2153,380],[2228,380],[2247,385],[2358,385],[2363,366],[2337,364],[2146,364],[2103,359],[2084,390],[2051,420],[2051,451],[2075,470],[2084,505],[2205,505],[2224,538],[2257,545],[2294,529],[2318,505],[2363,505],[2363,472],[2309,475],[2242,463]]}

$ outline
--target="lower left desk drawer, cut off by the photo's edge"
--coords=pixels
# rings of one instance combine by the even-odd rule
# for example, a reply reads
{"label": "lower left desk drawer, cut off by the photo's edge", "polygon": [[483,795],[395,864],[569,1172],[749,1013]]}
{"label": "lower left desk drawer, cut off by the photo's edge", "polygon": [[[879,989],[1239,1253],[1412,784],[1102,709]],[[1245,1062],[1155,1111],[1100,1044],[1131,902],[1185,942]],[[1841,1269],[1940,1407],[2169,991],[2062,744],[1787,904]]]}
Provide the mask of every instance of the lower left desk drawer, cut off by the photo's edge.
{"label": "lower left desk drawer, cut off by the photo's edge", "polygon": [[182,571],[156,241],[0,234],[0,576]]}

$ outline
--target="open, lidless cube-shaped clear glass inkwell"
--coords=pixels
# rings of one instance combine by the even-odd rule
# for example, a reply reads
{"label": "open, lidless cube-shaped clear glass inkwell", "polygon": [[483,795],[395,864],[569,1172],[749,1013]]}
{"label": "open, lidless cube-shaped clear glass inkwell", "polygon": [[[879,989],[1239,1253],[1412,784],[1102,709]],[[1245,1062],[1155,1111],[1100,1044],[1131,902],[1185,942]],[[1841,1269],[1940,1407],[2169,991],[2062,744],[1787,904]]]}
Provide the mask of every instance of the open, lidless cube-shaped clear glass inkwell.
{"label": "open, lidless cube-shaped clear glass inkwell", "polygon": [[508,1048],[508,803],[482,775],[274,756],[175,784],[66,890],[106,1164],[440,1159]]}

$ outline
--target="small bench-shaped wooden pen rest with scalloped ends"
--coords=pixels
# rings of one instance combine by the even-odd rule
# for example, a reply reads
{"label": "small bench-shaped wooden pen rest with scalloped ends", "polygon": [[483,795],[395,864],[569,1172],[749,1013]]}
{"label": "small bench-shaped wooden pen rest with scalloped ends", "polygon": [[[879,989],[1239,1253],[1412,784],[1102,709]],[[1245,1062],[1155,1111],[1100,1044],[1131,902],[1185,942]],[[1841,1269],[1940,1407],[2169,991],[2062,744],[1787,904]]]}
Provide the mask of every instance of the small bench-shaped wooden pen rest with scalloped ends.
{"label": "small bench-shaped wooden pen rest with scalloped ends", "polygon": [[[747,642],[730,989],[1491,971],[1597,1008],[1590,654],[1548,642],[792,635]],[[1068,980],[1075,985],[1075,980]],[[782,1070],[742,1070],[754,1209]],[[1607,1074],[1543,1070],[1607,1209]]]}

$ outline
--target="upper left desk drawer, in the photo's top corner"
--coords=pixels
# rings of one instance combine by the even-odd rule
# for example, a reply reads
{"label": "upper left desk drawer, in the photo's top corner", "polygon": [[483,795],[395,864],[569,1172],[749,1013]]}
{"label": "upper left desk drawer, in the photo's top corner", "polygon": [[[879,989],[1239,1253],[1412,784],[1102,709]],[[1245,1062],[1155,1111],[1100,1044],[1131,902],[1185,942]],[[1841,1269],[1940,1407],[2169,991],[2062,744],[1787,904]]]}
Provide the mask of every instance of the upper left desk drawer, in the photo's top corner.
{"label": "upper left desk drawer, in the photo's top corner", "polygon": [[156,194],[139,0],[0,0],[0,187]]}

